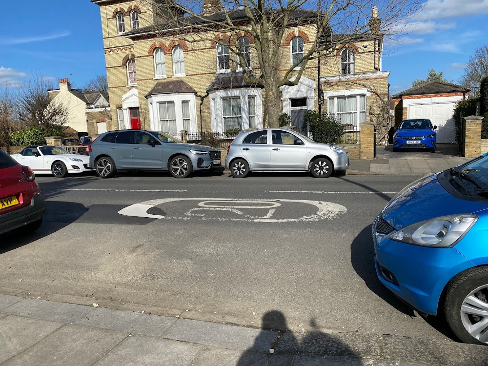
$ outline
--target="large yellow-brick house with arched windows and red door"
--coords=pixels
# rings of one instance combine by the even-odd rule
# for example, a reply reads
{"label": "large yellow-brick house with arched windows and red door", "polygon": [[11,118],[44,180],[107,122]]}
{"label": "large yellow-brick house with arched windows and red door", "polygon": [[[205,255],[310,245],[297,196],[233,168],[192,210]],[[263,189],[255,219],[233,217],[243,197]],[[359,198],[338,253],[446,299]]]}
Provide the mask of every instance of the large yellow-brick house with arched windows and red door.
{"label": "large yellow-brick house with arched windows and red door", "polygon": [[[216,31],[192,43],[179,39],[168,28],[162,35],[164,25],[158,16],[161,0],[91,1],[101,10],[107,79],[112,105],[116,106],[106,121],[108,130],[144,128],[178,133],[184,129],[194,133],[263,127],[264,90],[244,82],[240,62],[232,60],[234,56],[218,43],[225,34]],[[205,2],[208,6],[203,16],[218,16],[209,11],[214,4]],[[310,19],[316,17],[315,12],[306,12]],[[244,11],[232,14],[242,17]],[[359,130],[360,122],[372,119],[375,103],[387,100],[389,72],[382,70],[383,38],[376,15],[373,9],[370,39],[343,44],[333,55],[321,58],[320,74],[317,59],[308,61],[298,85],[281,88],[283,112],[292,116],[292,124],[301,125],[307,109],[325,108],[351,129]],[[280,45],[283,75],[294,58],[306,53],[315,32],[310,25],[290,24]],[[345,36],[332,37],[340,41]],[[244,32],[241,41],[245,46],[254,39]],[[255,51],[248,49],[252,64]]]}

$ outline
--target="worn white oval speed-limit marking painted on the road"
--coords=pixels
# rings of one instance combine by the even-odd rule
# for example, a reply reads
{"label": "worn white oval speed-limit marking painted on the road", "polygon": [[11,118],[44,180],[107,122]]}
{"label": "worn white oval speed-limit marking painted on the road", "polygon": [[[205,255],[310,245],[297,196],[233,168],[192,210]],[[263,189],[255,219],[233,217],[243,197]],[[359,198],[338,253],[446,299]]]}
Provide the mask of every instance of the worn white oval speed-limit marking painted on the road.
{"label": "worn white oval speed-limit marking painted on the road", "polygon": [[[266,206],[224,206],[224,205],[213,205],[213,206],[205,206],[197,207],[190,210],[187,210],[185,214],[186,217],[168,217],[163,215],[151,215],[147,213],[147,210],[151,207],[163,204],[163,203],[170,203],[170,202],[177,202],[177,201],[200,201],[200,203],[208,203],[208,202],[229,202],[229,203],[236,203],[236,202],[243,202],[243,203],[267,203]],[[289,219],[271,219],[271,215],[276,211],[269,210],[267,215],[264,217],[260,216],[248,216],[244,215],[244,213],[240,210],[235,208],[268,208],[268,207],[277,207],[275,203],[278,203],[278,206],[281,204],[279,202],[289,202],[289,203],[306,203],[311,204],[317,207],[317,212],[308,215],[302,216],[299,218],[289,218]],[[200,205],[200,204],[198,204]],[[201,205],[200,205],[201,206]],[[243,215],[243,218],[209,218],[204,217],[204,214],[194,214],[193,211],[195,210],[222,210],[222,211],[231,211],[237,213],[239,215]],[[248,222],[261,222],[261,223],[286,223],[286,222],[300,222],[300,221],[321,221],[321,220],[331,220],[341,215],[344,215],[347,212],[346,207],[338,203],[332,202],[324,202],[324,201],[311,201],[311,200],[284,200],[284,199],[235,199],[235,198],[163,198],[159,200],[150,200],[141,203],[132,204],[128,207],[122,208],[119,211],[119,214],[124,216],[136,216],[136,217],[150,217],[155,219],[177,219],[177,220],[218,220],[218,221],[248,221]]]}

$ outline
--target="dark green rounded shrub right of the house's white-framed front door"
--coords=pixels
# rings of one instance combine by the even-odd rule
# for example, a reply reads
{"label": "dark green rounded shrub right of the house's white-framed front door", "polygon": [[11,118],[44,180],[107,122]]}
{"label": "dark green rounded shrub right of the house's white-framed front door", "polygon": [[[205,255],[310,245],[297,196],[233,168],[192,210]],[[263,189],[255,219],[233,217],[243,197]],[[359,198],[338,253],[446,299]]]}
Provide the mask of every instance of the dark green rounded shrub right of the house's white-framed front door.
{"label": "dark green rounded shrub right of the house's white-framed front door", "polygon": [[304,129],[315,142],[336,143],[344,135],[344,126],[335,117],[328,114],[319,115],[316,111],[307,110],[304,116]]}

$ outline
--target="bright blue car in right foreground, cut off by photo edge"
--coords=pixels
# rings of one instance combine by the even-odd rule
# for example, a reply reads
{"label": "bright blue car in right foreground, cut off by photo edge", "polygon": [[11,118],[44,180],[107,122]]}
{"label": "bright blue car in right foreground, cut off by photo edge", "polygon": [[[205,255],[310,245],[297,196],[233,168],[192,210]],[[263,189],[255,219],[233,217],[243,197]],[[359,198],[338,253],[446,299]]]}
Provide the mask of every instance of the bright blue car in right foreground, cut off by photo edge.
{"label": "bright blue car in right foreground, cut off by photo edge", "polygon": [[488,153],[404,188],[373,241],[383,285],[461,341],[488,344]]}

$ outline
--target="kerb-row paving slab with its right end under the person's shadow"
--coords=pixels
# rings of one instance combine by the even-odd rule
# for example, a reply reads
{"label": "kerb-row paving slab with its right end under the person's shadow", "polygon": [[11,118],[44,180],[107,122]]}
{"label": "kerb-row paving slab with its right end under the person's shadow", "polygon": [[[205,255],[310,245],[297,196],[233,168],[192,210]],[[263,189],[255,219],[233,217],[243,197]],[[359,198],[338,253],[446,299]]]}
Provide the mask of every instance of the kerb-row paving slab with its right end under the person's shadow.
{"label": "kerb-row paving slab with its right end under the person's shadow", "polygon": [[277,333],[269,330],[244,328],[179,319],[169,328],[165,338],[193,342],[207,346],[267,352],[276,340]]}

